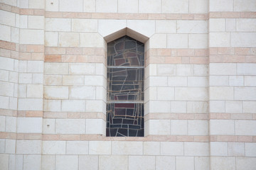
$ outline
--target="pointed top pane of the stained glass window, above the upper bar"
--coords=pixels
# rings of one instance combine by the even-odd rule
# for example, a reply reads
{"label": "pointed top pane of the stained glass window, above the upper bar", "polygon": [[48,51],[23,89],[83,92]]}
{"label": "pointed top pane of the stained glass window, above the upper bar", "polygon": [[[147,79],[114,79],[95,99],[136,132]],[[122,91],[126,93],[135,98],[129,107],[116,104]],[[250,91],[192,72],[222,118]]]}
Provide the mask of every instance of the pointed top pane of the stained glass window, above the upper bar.
{"label": "pointed top pane of the stained glass window, above the upper bar", "polygon": [[128,36],[108,43],[107,66],[144,66],[144,44]]}

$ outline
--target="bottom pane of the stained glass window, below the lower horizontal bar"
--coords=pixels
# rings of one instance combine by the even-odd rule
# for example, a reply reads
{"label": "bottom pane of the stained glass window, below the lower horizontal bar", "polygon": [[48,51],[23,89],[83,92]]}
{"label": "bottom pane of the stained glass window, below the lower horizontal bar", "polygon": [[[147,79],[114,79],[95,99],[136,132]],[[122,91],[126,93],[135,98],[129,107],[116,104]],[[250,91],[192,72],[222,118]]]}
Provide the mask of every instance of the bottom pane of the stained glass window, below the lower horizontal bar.
{"label": "bottom pane of the stained glass window, below the lower horizontal bar", "polygon": [[107,136],[144,136],[144,104],[107,104]]}

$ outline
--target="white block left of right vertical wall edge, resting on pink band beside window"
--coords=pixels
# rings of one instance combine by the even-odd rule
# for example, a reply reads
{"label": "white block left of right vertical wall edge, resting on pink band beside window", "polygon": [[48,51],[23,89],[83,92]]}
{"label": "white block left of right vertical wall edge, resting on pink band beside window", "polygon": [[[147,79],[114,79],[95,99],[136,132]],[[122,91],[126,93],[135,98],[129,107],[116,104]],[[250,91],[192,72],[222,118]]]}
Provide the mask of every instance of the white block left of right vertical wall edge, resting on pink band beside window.
{"label": "white block left of right vertical wall edge, resting on pink band beside window", "polygon": [[208,34],[188,34],[188,48],[207,48]]}

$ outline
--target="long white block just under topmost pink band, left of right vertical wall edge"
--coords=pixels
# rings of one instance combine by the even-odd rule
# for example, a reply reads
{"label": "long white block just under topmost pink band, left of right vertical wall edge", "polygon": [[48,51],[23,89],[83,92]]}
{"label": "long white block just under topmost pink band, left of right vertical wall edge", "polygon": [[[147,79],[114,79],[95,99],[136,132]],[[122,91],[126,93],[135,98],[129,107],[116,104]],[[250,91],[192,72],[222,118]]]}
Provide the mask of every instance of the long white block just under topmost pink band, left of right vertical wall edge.
{"label": "long white block just under topmost pink band, left of right vertical wall edge", "polygon": [[177,33],[208,33],[208,21],[177,21]]}

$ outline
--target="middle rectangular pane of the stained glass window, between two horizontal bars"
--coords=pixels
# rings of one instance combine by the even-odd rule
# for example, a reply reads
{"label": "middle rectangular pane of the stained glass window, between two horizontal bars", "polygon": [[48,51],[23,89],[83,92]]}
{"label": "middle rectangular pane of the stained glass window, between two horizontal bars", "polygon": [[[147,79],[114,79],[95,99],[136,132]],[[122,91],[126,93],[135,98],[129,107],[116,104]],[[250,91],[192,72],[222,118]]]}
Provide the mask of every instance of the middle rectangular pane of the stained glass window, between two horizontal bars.
{"label": "middle rectangular pane of the stained glass window, between two horizontal bars", "polygon": [[143,101],[144,69],[107,69],[108,101]]}

